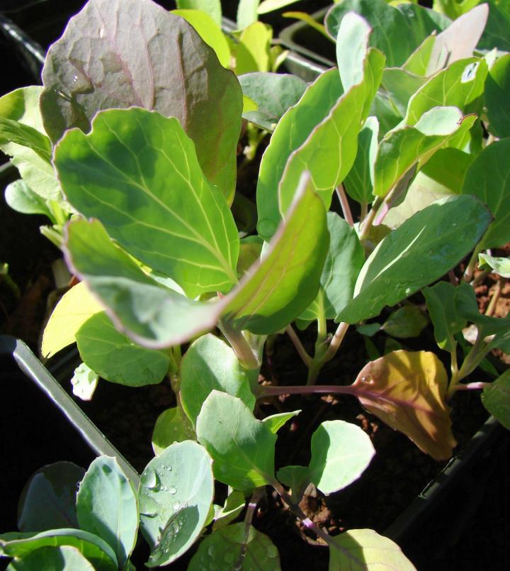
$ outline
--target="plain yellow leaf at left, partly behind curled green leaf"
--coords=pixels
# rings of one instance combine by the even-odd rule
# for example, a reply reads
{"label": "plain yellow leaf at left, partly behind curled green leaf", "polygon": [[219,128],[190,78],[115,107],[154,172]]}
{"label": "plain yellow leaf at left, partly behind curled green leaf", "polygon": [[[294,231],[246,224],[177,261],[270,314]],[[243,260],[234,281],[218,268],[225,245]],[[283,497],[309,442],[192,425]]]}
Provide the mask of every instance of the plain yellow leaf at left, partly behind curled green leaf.
{"label": "plain yellow leaf at left, partly behind curled green leaf", "polygon": [[104,307],[89,292],[84,282],[69,289],[55,306],[46,324],[42,335],[42,355],[52,357],[74,343],[79,328],[99,311],[104,311]]}

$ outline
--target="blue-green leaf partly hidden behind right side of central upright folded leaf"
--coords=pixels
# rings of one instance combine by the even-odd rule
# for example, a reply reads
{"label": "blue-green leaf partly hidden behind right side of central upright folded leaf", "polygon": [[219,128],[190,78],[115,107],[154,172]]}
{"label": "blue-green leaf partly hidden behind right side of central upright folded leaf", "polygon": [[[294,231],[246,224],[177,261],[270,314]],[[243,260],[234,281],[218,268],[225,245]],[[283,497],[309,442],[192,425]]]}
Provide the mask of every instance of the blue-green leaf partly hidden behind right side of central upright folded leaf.
{"label": "blue-green leaf partly hidden behind right side of central upright folded leaf", "polygon": [[311,321],[333,319],[353,298],[356,279],[365,262],[365,252],[354,228],[338,214],[327,213],[331,241],[320,278],[319,294],[300,315]]}

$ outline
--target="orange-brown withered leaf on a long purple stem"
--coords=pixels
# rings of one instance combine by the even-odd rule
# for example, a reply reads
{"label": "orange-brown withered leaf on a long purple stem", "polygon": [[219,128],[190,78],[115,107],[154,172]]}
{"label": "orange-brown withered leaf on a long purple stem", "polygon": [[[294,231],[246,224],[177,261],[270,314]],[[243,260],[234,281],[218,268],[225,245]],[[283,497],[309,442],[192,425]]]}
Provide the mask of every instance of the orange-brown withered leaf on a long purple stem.
{"label": "orange-brown withered leaf on a long purple stem", "polygon": [[448,377],[428,351],[393,351],[370,361],[352,385],[361,404],[408,436],[434,460],[447,460],[457,444],[445,395]]}

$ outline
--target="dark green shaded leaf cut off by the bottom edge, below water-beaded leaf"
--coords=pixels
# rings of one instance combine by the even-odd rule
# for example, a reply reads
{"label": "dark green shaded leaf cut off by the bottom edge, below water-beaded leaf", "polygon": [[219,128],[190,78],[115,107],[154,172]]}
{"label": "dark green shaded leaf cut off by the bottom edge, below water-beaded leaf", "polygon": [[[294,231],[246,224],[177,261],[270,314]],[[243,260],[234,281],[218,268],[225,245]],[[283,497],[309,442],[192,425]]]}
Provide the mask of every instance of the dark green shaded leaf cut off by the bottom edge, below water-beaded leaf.
{"label": "dark green shaded leaf cut off by the bottom edge, below water-beaded leaf", "polygon": [[[220,565],[220,567],[217,567]],[[188,571],[219,568],[222,571],[280,571],[278,549],[268,536],[241,521],[204,538]]]}

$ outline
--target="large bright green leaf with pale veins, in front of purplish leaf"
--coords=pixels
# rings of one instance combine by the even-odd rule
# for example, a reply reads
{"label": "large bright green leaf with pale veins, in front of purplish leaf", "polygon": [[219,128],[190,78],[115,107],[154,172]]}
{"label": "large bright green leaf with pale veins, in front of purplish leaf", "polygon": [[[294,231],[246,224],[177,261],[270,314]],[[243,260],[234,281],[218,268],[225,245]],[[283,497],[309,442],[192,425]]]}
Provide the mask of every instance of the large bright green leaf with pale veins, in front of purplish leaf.
{"label": "large bright green leaf with pale veins, in front of purplish leaf", "polygon": [[55,166],[81,214],[101,220],[120,245],[188,296],[225,292],[237,281],[234,218],[176,118],[103,111],[88,135],[75,129],[64,136]]}

